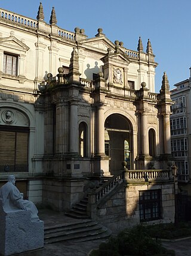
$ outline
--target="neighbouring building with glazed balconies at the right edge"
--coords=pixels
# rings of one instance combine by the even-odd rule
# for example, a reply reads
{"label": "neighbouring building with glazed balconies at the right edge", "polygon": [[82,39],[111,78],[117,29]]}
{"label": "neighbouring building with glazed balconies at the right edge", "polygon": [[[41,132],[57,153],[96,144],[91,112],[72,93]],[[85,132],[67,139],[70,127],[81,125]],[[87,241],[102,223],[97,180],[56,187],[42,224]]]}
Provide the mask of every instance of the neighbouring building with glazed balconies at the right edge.
{"label": "neighbouring building with glazed balconies at the right edge", "polygon": [[171,90],[171,150],[178,167],[178,182],[181,189],[189,191],[190,173],[190,78],[174,85]]}

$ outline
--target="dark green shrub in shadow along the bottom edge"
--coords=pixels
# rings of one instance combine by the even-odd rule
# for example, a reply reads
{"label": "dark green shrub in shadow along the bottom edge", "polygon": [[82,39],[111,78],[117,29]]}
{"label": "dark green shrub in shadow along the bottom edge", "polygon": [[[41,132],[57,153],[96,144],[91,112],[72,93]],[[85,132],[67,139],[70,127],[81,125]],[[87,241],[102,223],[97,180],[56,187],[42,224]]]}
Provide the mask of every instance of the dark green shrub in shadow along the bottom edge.
{"label": "dark green shrub in shadow along the bottom edge", "polygon": [[[156,225],[137,225],[125,229],[118,236],[110,237],[109,242],[101,243],[99,254],[95,256],[174,256],[174,251],[165,249],[160,240],[153,239],[159,230],[164,231],[162,225],[159,225],[158,228],[156,228]],[[171,230],[176,231],[174,226],[170,224],[165,232],[169,233]]]}

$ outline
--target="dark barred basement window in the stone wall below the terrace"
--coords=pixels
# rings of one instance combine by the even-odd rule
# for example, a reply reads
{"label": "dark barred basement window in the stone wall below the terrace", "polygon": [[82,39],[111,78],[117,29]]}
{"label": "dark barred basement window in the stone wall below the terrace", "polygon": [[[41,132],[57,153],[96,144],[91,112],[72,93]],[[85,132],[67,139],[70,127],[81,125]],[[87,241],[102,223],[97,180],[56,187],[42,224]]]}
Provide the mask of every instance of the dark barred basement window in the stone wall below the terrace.
{"label": "dark barred basement window in the stone wall below the terrace", "polygon": [[139,191],[140,221],[161,219],[161,189]]}

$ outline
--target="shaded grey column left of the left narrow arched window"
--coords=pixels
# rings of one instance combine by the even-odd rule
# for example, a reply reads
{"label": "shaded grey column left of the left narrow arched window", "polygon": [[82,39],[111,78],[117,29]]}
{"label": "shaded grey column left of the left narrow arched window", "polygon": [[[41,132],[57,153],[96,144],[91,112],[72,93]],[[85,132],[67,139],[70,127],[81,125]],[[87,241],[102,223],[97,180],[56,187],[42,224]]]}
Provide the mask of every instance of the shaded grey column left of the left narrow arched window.
{"label": "shaded grey column left of the left narrow arched window", "polygon": [[78,153],[78,101],[70,101],[70,153]]}

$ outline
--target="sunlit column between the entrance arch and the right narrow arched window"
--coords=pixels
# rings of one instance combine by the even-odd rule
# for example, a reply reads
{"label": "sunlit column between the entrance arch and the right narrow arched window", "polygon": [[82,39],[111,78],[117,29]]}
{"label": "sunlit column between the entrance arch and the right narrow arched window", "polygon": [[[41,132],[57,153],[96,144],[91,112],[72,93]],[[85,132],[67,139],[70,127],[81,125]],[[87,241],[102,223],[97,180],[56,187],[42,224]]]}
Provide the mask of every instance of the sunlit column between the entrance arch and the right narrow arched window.
{"label": "sunlit column between the entrance arch and the right narrow arched window", "polygon": [[147,129],[147,112],[141,114],[142,117],[142,140],[143,140],[143,155],[149,155],[149,132]]}

